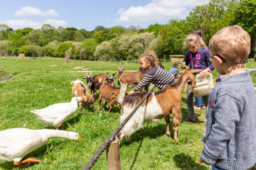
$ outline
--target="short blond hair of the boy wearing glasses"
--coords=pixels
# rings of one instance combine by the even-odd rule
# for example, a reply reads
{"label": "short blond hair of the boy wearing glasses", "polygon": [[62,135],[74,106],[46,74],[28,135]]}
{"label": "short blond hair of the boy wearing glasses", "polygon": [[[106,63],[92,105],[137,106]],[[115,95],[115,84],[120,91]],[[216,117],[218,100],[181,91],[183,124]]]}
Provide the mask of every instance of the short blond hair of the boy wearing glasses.
{"label": "short blond hair of the boy wearing glasses", "polygon": [[241,26],[220,29],[209,42],[210,54],[222,54],[228,62],[244,61],[250,53],[251,38]]}

